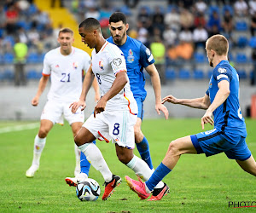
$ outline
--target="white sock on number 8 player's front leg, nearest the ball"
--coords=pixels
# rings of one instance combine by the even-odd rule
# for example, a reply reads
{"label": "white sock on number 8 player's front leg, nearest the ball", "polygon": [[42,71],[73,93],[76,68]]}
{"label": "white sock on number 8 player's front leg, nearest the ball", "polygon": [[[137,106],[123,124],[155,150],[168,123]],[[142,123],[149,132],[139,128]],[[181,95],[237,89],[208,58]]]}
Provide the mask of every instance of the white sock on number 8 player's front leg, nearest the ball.
{"label": "white sock on number 8 player's front leg, nearest the ball", "polygon": [[92,164],[96,170],[102,173],[102,176],[106,182],[112,180],[112,172],[109,170],[108,164],[103,158],[101,151],[94,143],[85,143],[79,146],[79,149],[84,153],[90,164]]}

